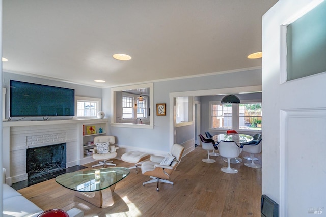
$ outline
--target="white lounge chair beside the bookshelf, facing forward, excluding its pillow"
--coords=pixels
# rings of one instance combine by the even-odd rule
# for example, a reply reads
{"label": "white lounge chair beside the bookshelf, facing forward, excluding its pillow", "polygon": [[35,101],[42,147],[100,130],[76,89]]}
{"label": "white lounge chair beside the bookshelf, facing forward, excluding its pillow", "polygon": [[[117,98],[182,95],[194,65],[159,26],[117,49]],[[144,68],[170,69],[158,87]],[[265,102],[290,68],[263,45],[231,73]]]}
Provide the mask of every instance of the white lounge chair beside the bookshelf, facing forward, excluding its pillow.
{"label": "white lounge chair beside the bookshelf, facing forward, excluding its pillow", "polygon": [[99,143],[106,143],[108,142],[108,153],[100,153],[99,149],[97,147],[94,147],[91,149],[93,151],[93,159],[99,160],[98,164],[93,165],[92,167],[97,167],[97,166],[103,166],[104,165],[111,165],[111,166],[116,166],[116,164],[113,164],[113,161],[108,161],[110,159],[113,159],[117,157],[117,149],[119,147],[116,147],[114,144],[116,142],[114,136],[96,136],[94,137],[94,145],[99,144]]}

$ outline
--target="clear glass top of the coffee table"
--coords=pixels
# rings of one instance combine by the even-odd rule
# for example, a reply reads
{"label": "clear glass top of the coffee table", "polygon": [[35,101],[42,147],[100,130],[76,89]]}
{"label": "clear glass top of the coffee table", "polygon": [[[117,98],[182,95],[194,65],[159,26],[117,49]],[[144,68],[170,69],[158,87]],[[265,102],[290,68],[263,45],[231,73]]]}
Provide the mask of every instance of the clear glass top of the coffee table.
{"label": "clear glass top of the coffee table", "polygon": [[94,192],[116,184],[129,173],[130,170],[126,167],[83,170],[59,175],[56,182],[74,191]]}

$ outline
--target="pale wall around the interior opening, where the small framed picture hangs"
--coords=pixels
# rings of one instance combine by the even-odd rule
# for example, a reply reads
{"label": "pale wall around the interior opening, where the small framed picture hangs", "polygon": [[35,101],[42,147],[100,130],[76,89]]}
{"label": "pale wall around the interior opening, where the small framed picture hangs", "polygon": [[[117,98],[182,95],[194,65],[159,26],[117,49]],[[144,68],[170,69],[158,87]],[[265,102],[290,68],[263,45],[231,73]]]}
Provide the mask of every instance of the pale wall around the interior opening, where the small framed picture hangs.
{"label": "pale wall around the interior opening, where the small framed picture hangs", "polygon": [[[154,128],[135,129],[111,127],[110,133],[117,136],[118,145],[126,145],[147,151],[156,150],[168,152],[170,147],[170,92],[185,92],[196,90],[209,90],[229,87],[243,87],[261,85],[261,69],[211,75],[195,78],[175,79],[170,81],[159,81],[153,83],[153,105],[166,103],[167,115],[156,116],[154,109]],[[194,96],[194,95],[193,95]],[[105,114],[112,115],[111,88],[103,89],[102,105]]]}

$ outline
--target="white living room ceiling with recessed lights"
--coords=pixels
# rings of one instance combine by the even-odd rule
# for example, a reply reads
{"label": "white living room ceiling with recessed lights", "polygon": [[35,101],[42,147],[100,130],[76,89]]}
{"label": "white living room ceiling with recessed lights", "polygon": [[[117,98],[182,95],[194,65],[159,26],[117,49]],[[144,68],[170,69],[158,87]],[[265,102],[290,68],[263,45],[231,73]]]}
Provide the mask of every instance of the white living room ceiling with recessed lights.
{"label": "white living room ceiling with recessed lights", "polygon": [[3,70],[110,87],[259,67],[247,55],[276,2],[3,0]]}

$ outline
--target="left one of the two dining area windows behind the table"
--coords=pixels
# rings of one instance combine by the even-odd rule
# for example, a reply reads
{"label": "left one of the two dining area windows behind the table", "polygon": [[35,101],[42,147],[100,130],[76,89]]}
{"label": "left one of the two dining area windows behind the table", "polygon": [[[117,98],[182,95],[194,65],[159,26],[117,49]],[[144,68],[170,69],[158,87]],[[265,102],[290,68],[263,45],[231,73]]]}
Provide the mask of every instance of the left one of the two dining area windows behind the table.
{"label": "left one of the two dining area windows behind the table", "polygon": [[211,104],[212,128],[232,128],[232,104]]}

